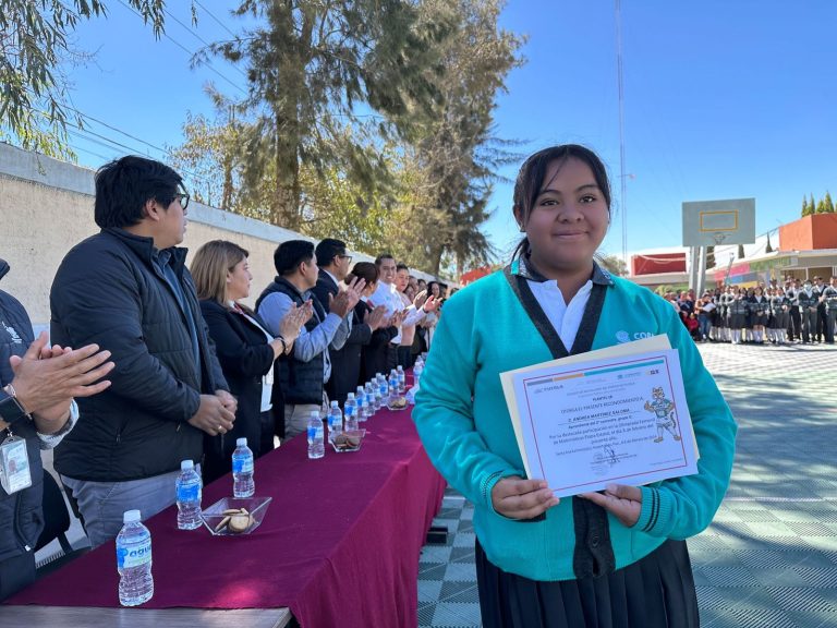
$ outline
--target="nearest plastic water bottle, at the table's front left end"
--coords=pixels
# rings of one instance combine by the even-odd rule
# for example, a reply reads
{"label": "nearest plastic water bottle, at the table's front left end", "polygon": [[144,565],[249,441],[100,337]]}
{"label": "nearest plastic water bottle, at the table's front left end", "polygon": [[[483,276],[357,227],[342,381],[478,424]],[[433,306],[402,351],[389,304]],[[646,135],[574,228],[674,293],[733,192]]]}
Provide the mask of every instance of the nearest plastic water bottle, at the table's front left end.
{"label": "nearest plastic water bottle, at the table's front left end", "polygon": [[138,606],[154,595],[151,533],[143,526],[140,510],[126,511],[122,522],[124,526],[117,535],[119,603]]}

